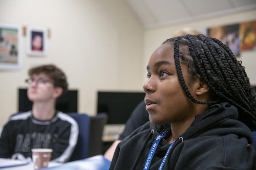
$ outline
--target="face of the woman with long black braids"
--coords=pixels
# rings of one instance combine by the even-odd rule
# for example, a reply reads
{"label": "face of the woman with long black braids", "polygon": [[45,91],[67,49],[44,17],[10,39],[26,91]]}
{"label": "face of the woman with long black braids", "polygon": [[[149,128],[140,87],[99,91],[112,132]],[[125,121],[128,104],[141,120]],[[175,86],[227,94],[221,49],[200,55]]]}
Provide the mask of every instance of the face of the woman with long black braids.
{"label": "face of the woman with long black braids", "polygon": [[[174,49],[171,43],[165,43],[153,52],[149,59],[148,80],[143,88],[144,101],[153,124],[182,122],[194,115],[195,103],[184,93],[176,72]],[[196,83],[188,74],[187,64],[181,62],[182,74],[190,93],[194,96]]]}

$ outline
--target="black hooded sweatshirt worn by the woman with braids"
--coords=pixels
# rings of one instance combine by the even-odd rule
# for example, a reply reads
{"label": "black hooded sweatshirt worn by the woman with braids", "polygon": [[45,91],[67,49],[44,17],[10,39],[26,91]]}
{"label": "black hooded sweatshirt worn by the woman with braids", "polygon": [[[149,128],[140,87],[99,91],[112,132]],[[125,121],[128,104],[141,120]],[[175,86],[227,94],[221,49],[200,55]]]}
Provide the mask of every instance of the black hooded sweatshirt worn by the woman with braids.
{"label": "black hooded sweatshirt worn by the woman with braids", "polygon": [[[247,146],[251,130],[237,119],[238,110],[229,103],[212,105],[198,114],[176,139],[163,170],[252,169],[255,149]],[[143,169],[154,139],[165,126],[148,122],[125,138],[117,146],[110,170]],[[160,140],[149,170],[159,168],[169,146],[165,139]]]}

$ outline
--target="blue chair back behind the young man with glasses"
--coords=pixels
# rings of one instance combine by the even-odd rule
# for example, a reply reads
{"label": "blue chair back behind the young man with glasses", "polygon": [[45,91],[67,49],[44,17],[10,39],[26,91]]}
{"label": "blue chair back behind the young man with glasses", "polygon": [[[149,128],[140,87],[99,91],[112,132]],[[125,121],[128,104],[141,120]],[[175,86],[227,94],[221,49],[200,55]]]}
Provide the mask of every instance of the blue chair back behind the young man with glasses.
{"label": "blue chair back behind the young man with glasses", "polygon": [[90,120],[91,118],[86,114],[68,113],[69,116],[75,119],[79,127],[79,134],[75,150],[71,155],[69,161],[81,160],[89,157],[89,143],[90,143]]}

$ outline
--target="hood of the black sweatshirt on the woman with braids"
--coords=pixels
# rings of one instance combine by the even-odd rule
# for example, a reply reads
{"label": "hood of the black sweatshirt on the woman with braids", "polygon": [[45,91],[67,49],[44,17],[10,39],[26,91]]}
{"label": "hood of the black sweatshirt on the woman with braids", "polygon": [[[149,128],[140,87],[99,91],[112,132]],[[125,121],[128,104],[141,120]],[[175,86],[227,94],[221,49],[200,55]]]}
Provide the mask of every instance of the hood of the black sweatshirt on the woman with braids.
{"label": "hood of the black sweatshirt on the woman with braids", "polygon": [[[245,137],[251,143],[251,131],[245,124],[237,120],[238,116],[235,106],[229,103],[214,104],[206,112],[198,114],[190,128],[180,137],[182,140],[186,140],[210,135],[237,134],[240,137]],[[150,129],[154,131],[154,139],[165,126],[167,125],[149,125]]]}

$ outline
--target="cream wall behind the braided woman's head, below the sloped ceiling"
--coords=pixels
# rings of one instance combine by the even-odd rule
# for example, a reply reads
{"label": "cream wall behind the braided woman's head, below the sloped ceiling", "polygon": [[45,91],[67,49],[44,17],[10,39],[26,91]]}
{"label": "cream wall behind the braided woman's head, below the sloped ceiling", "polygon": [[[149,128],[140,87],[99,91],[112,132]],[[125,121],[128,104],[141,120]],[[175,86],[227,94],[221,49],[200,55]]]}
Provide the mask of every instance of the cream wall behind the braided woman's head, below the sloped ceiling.
{"label": "cream wall behind the braided woman's head, below the sloped ceiling", "polygon": [[[178,30],[184,27],[189,27],[192,29],[202,29],[212,26],[222,26],[229,25],[233,23],[240,23],[244,21],[255,21],[256,20],[256,10],[251,10],[247,12],[240,12],[231,15],[224,15],[214,18],[202,19],[200,21],[186,22],[182,24],[174,24],[172,26],[165,26],[161,28],[149,29],[144,31],[144,62],[143,62],[143,77],[146,81],[146,66],[149,61],[149,57],[155,49],[162,44],[166,39],[171,38],[171,36]],[[241,56],[238,60],[242,61],[242,65],[245,66],[245,71],[250,78],[251,84],[256,85],[256,51],[241,52]]]}

